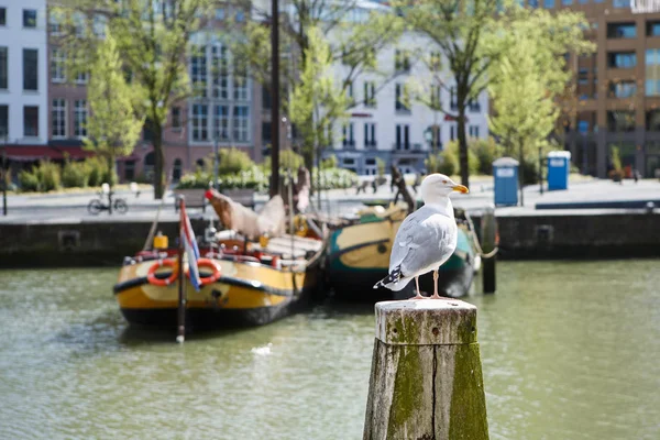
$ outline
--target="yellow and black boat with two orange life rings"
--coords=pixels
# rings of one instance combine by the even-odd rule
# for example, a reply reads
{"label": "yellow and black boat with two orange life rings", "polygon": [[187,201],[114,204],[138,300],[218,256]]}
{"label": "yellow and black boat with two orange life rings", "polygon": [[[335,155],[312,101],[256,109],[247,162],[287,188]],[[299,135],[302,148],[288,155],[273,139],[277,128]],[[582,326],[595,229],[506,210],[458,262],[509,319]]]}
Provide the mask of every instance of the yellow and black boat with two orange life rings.
{"label": "yellow and black boat with two orange life rings", "polygon": [[[260,215],[215,190],[207,193],[226,230],[207,230],[199,248],[201,286],[179,277],[178,248],[155,235],[152,249],[127,257],[114,286],[131,324],[175,328],[179,284],[185,284],[187,327],[262,326],[304,306],[316,286],[324,250],[322,237],[300,219],[294,234],[284,233],[284,204],[272,198]],[[185,212],[185,209],[183,210]],[[292,222],[293,223],[293,222]],[[189,275],[183,258],[184,274]]]}

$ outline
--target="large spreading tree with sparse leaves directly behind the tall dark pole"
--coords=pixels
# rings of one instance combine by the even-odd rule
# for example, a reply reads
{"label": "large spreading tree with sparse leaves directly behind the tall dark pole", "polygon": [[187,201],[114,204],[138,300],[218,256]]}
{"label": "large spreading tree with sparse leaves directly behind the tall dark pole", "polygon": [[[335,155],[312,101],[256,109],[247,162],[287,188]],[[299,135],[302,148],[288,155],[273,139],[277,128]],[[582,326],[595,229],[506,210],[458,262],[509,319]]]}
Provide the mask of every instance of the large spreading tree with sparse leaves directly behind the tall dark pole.
{"label": "large spreading tree with sparse leaves directly behind the tall dark pole", "polygon": [[[308,69],[310,56],[317,48],[311,48],[319,40],[332,41],[328,46],[327,65],[342,64],[340,81],[338,87],[348,94],[354,80],[365,74],[371,73],[381,78],[380,84],[374,87],[374,94],[377,92],[388,79],[395,74],[393,72],[380,70],[376,65],[376,54],[384,47],[396,42],[404,31],[404,22],[383,7],[369,13],[358,7],[356,0],[345,2],[326,2],[317,0],[294,0],[287,13],[280,14],[280,57],[279,63],[282,73],[282,89],[293,91],[297,87],[299,75],[311,70]],[[356,11],[364,11],[364,16],[353,19]],[[240,56],[244,63],[250,66],[250,73],[262,86],[270,88],[271,78],[271,47],[264,44],[268,41],[270,28],[264,23],[271,22],[271,12],[253,9],[253,15],[257,18],[256,22],[249,23],[245,26],[245,34],[237,34],[232,52]],[[312,55],[314,57],[314,55]],[[337,73],[336,73],[337,74]],[[304,90],[311,91],[311,87],[298,88],[298,113],[300,110],[300,99]],[[318,91],[318,90],[317,90]],[[285,94],[280,96],[286,97]],[[314,99],[319,99],[315,95]],[[308,99],[309,100],[309,99]],[[344,111],[364,101],[344,100]],[[334,101],[337,103],[337,101]],[[289,101],[284,98],[279,105],[285,113],[289,112]],[[329,110],[334,113],[334,109]],[[293,114],[289,114],[293,120]],[[296,117],[300,121],[300,113]],[[301,125],[296,124],[297,129],[302,130]],[[317,123],[319,130],[324,130],[322,123]],[[306,129],[305,129],[306,130]],[[309,134],[308,134],[309,135]],[[302,136],[305,139],[305,135]],[[302,154],[305,165],[311,169],[314,165],[315,152],[318,148],[327,146],[330,139],[321,132],[312,136],[317,140],[315,147],[305,145]],[[307,144],[307,141],[305,141]],[[326,143],[323,143],[326,142]]]}

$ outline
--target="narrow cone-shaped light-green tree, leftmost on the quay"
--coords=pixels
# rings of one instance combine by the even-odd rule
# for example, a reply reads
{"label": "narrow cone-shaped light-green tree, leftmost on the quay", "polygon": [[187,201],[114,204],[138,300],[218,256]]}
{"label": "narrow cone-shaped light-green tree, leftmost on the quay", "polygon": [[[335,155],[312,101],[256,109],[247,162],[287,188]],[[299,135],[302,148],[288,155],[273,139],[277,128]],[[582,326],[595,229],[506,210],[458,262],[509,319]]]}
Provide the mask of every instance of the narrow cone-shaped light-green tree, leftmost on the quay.
{"label": "narrow cone-shaped light-green tree, leftmost on the quay", "polygon": [[117,42],[111,33],[107,33],[91,65],[87,87],[90,117],[84,148],[95,151],[108,161],[110,186],[114,184],[117,157],[130,155],[142,132],[144,119],[135,114],[135,102],[142,97],[140,91],[140,87],[127,84]]}

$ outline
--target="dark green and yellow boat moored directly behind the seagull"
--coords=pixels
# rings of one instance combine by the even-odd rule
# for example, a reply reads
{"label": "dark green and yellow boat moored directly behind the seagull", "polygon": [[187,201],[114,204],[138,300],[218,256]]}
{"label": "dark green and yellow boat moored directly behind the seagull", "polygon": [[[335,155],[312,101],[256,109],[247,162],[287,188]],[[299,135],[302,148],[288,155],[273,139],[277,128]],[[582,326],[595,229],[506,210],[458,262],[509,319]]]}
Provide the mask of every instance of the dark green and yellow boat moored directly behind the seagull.
{"label": "dark green and yellow boat moored directly behind the seagull", "polygon": [[[414,296],[415,283],[400,292],[374,289],[378,279],[387,276],[389,254],[396,232],[407,216],[407,206],[391,204],[369,207],[359,217],[331,231],[328,242],[328,283],[334,296],[348,300],[405,299]],[[454,210],[459,238],[457,250],[440,267],[438,280],[441,296],[468,295],[481,257],[475,249],[476,239],[472,222],[462,210]],[[419,278],[420,289],[433,293],[432,274]]]}

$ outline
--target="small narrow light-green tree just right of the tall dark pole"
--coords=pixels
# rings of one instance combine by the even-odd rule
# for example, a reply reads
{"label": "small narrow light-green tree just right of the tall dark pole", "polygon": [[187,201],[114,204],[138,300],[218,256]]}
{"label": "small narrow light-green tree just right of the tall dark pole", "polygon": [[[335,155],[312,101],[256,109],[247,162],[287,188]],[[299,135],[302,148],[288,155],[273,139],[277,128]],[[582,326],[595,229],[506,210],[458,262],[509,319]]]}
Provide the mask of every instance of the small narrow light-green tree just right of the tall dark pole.
{"label": "small narrow light-green tree just right of the tall dark pole", "polygon": [[307,63],[294,86],[289,102],[289,117],[298,127],[302,139],[304,156],[319,155],[330,144],[333,123],[345,114],[348,97],[337,85],[331,72],[331,54],[319,29],[308,32]]}

